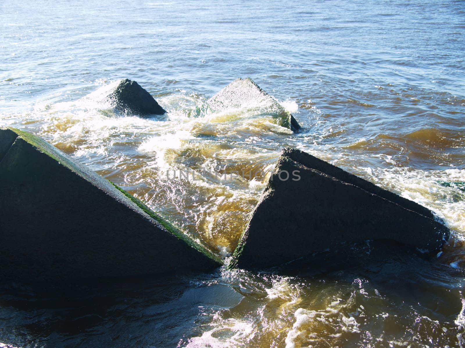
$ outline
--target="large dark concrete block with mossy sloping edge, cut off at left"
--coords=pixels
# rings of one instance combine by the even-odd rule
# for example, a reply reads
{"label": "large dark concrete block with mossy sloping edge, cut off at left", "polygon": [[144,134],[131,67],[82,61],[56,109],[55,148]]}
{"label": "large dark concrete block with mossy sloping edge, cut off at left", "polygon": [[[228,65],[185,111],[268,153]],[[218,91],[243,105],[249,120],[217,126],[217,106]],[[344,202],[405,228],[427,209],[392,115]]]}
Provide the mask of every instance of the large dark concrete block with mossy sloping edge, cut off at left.
{"label": "large dark concrete block with mossy sloping edge, cut off at left", "polygon": [[0,154],[0,278],[206,271],[221,262],[142,202],[39,137],[0,129]]}

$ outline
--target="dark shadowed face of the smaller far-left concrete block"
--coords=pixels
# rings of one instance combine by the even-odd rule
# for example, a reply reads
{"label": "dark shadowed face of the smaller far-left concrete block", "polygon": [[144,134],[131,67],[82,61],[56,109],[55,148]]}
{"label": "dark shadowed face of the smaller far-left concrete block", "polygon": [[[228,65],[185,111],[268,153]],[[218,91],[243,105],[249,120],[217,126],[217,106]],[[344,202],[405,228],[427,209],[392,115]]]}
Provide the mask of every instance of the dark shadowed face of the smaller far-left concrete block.
{"label": "dark shadowed face of the smaller far-left concrete block", "polygon": [[166,113],[149,92],[127,78],[121,80],[107,98],[116,109],[126,114],[146,116]]}

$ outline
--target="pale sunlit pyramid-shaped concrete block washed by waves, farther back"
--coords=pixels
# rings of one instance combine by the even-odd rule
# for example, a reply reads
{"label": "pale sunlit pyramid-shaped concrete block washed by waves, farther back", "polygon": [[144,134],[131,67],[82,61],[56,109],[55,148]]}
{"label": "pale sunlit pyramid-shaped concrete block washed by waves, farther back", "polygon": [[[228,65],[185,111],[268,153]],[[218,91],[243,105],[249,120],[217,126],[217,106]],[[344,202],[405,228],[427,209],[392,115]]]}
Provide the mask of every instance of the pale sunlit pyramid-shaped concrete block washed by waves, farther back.
{"label": "pale sunlit pyramid-shaped concrete block washed by waves, farther back", "polygon": [[297,131],[299,122],[251,78],[237,78],[206,102],[207,112],[250,108],[279,118],[279,125]]}

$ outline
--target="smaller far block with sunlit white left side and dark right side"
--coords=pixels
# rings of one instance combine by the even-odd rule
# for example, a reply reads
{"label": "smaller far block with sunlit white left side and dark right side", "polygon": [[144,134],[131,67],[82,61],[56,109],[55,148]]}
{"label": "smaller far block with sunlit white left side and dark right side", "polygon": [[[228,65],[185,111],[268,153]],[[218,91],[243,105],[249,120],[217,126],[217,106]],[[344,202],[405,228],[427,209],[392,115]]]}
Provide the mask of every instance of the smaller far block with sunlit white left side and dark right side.
{"label": "smaller far block with sunlit white left side and dark right side", "polygon": [[104,86],[85,99],[95,100],[125,115],[148,116],[166,113],[149,92],[128,78]]}

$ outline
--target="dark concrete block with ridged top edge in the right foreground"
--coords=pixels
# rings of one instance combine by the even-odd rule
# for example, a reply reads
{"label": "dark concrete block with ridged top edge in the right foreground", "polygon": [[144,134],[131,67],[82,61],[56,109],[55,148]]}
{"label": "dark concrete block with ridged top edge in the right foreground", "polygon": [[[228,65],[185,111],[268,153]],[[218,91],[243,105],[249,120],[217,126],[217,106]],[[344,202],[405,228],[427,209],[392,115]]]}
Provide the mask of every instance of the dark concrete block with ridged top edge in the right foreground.
{"label": "dark concrete block with ridged top edge in the right foreground", "polygon": [[378,239],[434,251],[449,234],[425,207],[286,148],[234,262],[241,268],[271,267],[343,243]]}

